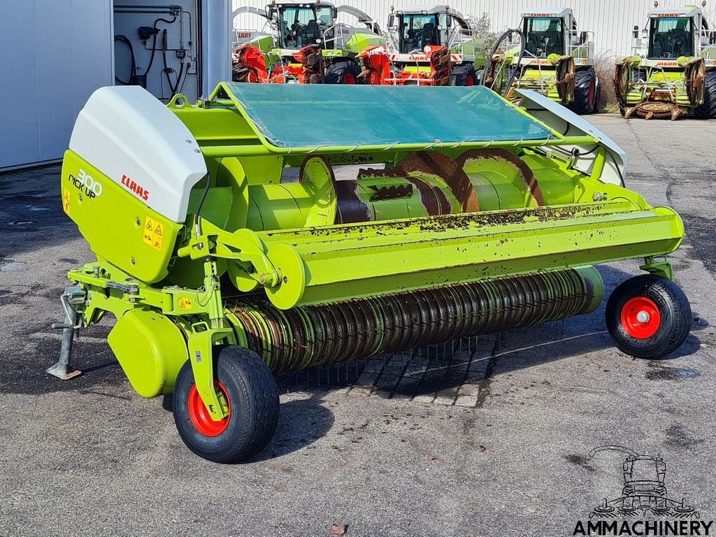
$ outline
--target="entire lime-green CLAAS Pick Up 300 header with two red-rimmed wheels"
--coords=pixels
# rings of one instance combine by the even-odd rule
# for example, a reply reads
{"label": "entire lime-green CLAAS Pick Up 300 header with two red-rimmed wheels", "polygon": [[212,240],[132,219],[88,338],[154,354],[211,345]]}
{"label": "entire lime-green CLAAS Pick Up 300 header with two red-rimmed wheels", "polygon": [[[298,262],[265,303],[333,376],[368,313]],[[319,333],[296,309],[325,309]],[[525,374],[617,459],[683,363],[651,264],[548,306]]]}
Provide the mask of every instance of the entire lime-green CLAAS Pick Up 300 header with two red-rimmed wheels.
{"label": "entire lime-green CLAAS Pick Up 300 header with two red-rimmed wheels", "polygon": [[115,316],[132,387],[173,392],[180,436],[218,462],[271,440],[273,373],[589,313],[598,263],[648,273],[609,299],[616,345],[677,349],[690,311],[663,256],[681,219],[625,188],[609,138],[519,95],[226,83],[165,107],[97,90],[62,168],[97,256],[69,273],[63,340]]}

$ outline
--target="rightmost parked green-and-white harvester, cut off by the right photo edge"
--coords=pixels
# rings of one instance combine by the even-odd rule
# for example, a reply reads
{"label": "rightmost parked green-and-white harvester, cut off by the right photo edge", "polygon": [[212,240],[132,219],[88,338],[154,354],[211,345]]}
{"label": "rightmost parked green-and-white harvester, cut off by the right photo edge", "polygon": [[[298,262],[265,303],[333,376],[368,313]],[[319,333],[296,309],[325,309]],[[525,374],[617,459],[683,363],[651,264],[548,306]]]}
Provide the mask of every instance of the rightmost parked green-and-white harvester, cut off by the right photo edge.
{"label": "rightmost parked green-and-white harvester, cut off by the right photo edge", "polygon": [[634,26],[634,54],[616,62],[621,115],[716,118],[716,31],[697,6],[654,6],[641,37]]}

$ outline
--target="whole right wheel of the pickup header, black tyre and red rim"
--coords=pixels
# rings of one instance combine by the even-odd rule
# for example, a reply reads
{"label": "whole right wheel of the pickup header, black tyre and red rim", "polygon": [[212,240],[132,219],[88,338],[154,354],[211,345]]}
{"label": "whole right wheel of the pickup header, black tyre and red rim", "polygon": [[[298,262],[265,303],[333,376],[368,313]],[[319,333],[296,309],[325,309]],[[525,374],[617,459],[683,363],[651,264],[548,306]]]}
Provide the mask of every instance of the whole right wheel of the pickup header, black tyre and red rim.
{"label": "whole right wheel of the pickup header, black tyre and red rim", "polygon": [[606,328],[616,348],[660,359],[681,347],[691,330],[689,299],[677,284],[645,274],[624,281],[606,302]]}

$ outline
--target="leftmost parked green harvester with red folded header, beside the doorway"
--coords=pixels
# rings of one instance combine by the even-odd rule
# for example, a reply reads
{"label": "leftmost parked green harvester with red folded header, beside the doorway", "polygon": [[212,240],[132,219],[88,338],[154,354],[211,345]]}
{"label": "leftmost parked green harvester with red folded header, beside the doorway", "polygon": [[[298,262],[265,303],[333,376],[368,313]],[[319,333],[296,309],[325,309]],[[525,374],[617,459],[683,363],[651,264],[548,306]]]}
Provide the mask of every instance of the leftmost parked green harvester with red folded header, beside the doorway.
{"label": "leftmost parked green harvester with red folded header, beside the doorway", "polygon": [[[364,27],[337,22],[339,11]],[[235,31],[235,82],[355,84],[357,55],[385,44],[377,23],[352,6],[325,1],[269,4],[265,11],[244,6],[234,11],[263,16],[271,32]]]}

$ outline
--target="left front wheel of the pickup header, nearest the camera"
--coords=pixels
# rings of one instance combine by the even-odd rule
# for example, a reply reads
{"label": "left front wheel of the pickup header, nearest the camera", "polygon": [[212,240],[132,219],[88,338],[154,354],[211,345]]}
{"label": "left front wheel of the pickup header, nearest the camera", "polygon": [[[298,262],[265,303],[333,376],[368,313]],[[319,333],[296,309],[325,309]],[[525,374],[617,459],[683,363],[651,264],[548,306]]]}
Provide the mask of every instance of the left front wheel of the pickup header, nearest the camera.
{"label": "left front wheel of the pickup header, nearest the camera", "polygon": [[279,421],[279,389],[258,355],[242,347],[223,347],[214,379],[229,403],[222,422],[208,416],[197,400],[190,362],[179,372],[174,387],[174,422],[187,447],[215,463],[238,463],[266,447]]}

